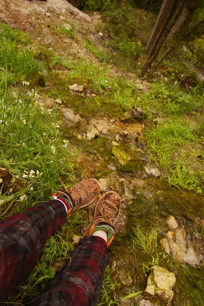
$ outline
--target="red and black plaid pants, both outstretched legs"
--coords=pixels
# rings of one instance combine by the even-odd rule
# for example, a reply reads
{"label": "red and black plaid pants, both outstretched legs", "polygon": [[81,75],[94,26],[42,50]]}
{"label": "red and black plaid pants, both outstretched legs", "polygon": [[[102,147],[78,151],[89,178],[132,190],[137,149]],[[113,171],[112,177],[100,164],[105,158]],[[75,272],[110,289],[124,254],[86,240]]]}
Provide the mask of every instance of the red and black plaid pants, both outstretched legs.
{"label": "red and black plaid pants, both outstretched legs", "polygon": [[[63,203],[50,200],[0,223],[0,304],[31,273],[42,247],[66,221]],[[62,270],[32,306],[96,305],[108,265],[104,239],[83,238]]]}

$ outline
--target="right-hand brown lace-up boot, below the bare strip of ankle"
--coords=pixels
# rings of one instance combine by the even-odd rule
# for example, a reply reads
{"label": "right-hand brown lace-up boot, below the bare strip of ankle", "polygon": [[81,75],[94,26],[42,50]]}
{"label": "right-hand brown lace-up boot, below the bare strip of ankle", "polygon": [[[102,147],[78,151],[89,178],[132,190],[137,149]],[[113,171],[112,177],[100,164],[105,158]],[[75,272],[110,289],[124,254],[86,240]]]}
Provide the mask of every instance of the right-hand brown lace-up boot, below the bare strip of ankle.
{"label": "right-hand brown lace-up boot, below the bare strip of ankle", "polygon": [[[107,246],[109,246],[115,236],[115,224],[120,213],[120,206],[120,196],[117,192],[108,191],[101,196],[96,203],[93,220],[89,224],[84,236],[91,236],[95,232],[96,226],[101,231],[103,231],[104,227],[108,232]],[[111,236],[110,239],[109,236]]]}

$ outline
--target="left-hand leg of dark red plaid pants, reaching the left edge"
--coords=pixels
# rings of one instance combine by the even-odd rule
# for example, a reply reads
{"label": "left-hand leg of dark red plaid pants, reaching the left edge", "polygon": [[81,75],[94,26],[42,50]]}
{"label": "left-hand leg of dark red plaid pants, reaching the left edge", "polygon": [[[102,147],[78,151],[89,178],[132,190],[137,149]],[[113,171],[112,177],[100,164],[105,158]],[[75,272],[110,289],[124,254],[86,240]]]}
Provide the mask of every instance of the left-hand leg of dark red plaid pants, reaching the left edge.
{"label": "left-hand leg of dark red plaid pants, reaching the left edge", "polygon": [[63,203],[51,200],[0,223],[0,304],[29,276],[47,239],[65,221]]}

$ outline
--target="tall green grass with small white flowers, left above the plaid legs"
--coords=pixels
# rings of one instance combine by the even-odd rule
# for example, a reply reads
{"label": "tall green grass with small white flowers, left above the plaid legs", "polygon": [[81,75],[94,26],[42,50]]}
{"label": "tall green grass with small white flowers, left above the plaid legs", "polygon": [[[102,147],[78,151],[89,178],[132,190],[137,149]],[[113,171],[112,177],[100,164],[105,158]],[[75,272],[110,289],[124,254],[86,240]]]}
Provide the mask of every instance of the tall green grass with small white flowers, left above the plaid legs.
{"label": "tall green grass with small white flowers, left above the plaid legs", "polygon": [[[58,188],[58,178],[73,171],[68,141],[59,131],[58,115],[44,109],[40,97],[28,85],[12,92],[7,88],[7,73],[2,70],[0,95],[1,167],[13,176],[13,186],[1,194],[2,216],[50,196]],[[4,87],[6,89],[4,89]],[[14,205],[15,203],[15,205]],[[17,204],[17,205],[16,205]]]}

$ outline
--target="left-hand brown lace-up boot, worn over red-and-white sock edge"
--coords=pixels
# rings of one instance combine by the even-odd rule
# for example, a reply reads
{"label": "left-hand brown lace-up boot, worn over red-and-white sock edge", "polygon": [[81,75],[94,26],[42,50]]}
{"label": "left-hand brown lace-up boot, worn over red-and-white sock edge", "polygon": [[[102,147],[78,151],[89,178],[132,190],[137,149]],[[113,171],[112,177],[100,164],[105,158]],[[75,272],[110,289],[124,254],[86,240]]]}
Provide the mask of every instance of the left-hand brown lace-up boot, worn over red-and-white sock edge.
{"label": "left-hand brown lace-up boot, worn over red-and-white sock edge", "polygon": [[[65,186],[64,186],[65,187]],[[84,180],[73,187],[68,189],[60,189],[52,196],[63,196],[68,200],[71,208],[68,210],[67,215],[72,211],[89,206],[98,197],[100,186],[95,179]]]}

